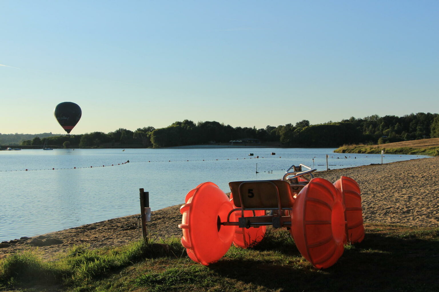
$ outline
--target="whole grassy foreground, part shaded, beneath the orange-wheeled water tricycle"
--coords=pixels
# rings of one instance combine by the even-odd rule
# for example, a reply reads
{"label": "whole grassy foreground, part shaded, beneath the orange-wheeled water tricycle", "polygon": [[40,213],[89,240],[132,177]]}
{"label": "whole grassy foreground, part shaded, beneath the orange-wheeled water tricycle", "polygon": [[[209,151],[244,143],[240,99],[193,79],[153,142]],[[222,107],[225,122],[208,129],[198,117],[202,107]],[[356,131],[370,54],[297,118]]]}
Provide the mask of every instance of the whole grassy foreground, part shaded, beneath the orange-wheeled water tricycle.
{"label": "whole grassy foreground, part shaded, beneath the orange-wheeled water tricycle", "polygon": [[[268,229],[254,249],[231,247],[208,267],[187,258],[179,239],[83,250],[54,262],[35,253],[0,262],[0,290],[17,291],[438,291],[439,228],[366,224],[363,243],[316,270],[289,233]],[[71,252],[80,250],[75,247]]]}

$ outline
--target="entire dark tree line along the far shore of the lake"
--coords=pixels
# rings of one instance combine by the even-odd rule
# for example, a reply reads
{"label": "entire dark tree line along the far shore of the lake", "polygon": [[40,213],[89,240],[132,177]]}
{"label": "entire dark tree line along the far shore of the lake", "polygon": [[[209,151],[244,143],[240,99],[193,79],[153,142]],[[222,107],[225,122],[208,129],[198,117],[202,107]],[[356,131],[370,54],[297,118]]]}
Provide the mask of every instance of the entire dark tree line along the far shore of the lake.
{"label": "entire dark tree line along the far shore of the lake", "polygon": [[[0,139],[5,134],[0,134]],[[9,134],[11,135],[11,134]],[[294,125],[232,127],[216,121],[194,123],[177,121],[168,127],[152,126],[135,131],[119,128],[113,132],[50,136],[20,141],[21,145],[51,145],[81,148],[94,147],[172,147],[192,144],[228,143],[240,139],[253,142],[278,142],[284,147],[339,147],[343,144],[384,144],[389,142],[439,137],[437,113],[411,113],[404,116],[372,115],[351,117],[340,122],[311,125],[308,120]],[[4,144],[4,141],[0,142]]]}

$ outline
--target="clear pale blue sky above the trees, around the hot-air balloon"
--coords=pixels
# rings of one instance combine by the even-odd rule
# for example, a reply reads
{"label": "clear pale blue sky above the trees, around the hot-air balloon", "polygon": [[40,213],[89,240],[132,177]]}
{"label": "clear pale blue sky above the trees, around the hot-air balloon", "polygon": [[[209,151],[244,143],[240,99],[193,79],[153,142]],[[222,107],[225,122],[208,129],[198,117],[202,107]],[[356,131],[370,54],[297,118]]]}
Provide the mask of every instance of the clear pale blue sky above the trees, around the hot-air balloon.
{"label": "clear pale blue sky above the trees, around the hot-air balloon", "polygon": [[439,112],[439,1],[0,1],[0,133]]}

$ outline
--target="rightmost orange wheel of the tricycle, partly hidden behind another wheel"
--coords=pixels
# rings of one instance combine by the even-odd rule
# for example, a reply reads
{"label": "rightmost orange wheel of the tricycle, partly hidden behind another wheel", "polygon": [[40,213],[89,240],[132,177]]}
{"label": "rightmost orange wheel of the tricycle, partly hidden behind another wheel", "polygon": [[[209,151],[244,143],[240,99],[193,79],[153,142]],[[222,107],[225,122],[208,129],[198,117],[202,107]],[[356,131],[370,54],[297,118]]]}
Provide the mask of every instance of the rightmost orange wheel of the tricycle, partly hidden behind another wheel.
{"label": "rightmost orange wheel of the tricycle, partly hidden behind another wheel", "polygon": [[334,186],[342,193],[345,202],[346,240],[350,243],[360,243],[364,239],[360,186],[355,180],[347,176],[338,179]]}

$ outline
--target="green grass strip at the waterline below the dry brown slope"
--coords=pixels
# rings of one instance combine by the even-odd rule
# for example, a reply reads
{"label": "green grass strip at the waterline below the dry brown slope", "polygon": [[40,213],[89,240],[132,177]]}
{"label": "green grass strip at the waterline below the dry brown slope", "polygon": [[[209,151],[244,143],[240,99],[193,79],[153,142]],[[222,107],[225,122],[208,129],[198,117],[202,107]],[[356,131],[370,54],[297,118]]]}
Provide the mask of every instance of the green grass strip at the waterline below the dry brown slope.
{"label": "green grass strip at the waterline below the dry brown slope", "polygon": [[387,154],[410,154],[410,155],[428,155],[439,156],[439,148],[386,148],[385,144],[380,147],[372,147],[369,145],[343,145],[334,150],[335,153],[357,153],[357,154],[381,154],[384,150]]}

